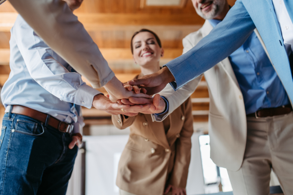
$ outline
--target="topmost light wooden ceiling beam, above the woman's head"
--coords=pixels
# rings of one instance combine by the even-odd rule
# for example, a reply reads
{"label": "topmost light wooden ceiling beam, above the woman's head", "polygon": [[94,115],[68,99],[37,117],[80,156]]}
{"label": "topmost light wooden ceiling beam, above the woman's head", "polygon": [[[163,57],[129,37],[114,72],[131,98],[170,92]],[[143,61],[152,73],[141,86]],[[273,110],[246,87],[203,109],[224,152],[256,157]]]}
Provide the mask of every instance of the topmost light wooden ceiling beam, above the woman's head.
{"label": "topmost light wooden ceiling beam, above the woman's head", "polygon": [[[9,32],[13,26],[18,13],[1,12],[0,13],[0,31]],[[76,16],[84,24],[87,31],[96,31],[99,29],[117,29],[121,26],[192,26],[202,25],[204,20],[197,14],[101,14],[101,13],[77,13]],[[126,27],[124,27],[126,29]],[[163,28],[163,27],[161,27]]]}

